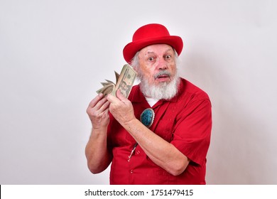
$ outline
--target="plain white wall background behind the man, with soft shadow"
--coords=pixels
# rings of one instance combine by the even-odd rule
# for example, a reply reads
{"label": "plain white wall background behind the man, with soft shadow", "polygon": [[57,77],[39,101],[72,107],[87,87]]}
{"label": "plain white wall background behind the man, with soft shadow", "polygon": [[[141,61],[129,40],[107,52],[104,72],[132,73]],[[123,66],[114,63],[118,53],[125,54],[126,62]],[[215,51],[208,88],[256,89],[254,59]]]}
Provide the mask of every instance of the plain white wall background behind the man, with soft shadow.
{"label": "plain white wall background behind the man, with soft shadow", "polygon": [[86,114],[146,23],[184,41],[180,74],[212,101],[208,184],[277,183],[277,1],[0,0],[0,184],[108,184]]}

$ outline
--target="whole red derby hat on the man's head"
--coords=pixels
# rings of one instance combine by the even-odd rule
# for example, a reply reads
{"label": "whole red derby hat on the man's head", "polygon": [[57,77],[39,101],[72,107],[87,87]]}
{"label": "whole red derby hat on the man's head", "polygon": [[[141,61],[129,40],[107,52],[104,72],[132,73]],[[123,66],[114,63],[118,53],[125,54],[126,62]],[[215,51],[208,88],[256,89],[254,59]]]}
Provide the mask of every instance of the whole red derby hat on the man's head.
{"label": "whole red derby hat on the man's head", "polygon": [[183,41],[179,36],[170,36],[168,29],[158,23],[151,23],[142,26],[134,33],[133,40],[123,49],[123,56],[127,63],[131,63],[136,52],[142,48],[158,43],[171,45],[178,55],[183,50]]}

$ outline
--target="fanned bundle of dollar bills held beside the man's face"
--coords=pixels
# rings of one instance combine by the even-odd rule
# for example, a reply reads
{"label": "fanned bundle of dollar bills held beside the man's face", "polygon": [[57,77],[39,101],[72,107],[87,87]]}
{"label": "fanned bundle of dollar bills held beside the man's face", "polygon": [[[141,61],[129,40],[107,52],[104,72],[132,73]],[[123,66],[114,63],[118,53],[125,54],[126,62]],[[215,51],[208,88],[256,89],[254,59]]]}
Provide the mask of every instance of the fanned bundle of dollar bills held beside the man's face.
{"label": "fanned bundle of dollar bills held beside the man's face", "polygon": [[122,95],[128,97],[131,92],[131,87],[136,80],[136,71],[131,67],[131,65],[126,64],[123,66],[120,75],[117,72],[114,72],[116,75],[116,83],[106,80],[106,82],[101,82],[102,88],[97,90],[97,93],[103,93],[108,95],[111,93],[116,96],[116,91],[120,90]]}

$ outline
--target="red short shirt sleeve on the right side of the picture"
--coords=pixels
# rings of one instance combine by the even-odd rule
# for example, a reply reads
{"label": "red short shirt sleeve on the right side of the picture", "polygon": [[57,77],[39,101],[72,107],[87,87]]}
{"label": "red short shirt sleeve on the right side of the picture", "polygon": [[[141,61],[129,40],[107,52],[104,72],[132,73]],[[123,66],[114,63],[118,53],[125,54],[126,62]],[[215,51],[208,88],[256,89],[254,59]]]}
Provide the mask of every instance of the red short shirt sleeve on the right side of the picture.
{"label": "red short shirt sleeve on the right side of the picture", "polygon": [[207,98],[193,101],[180,112],[171,144],[191,161],[202,164],[210,146],[212,106]]}

